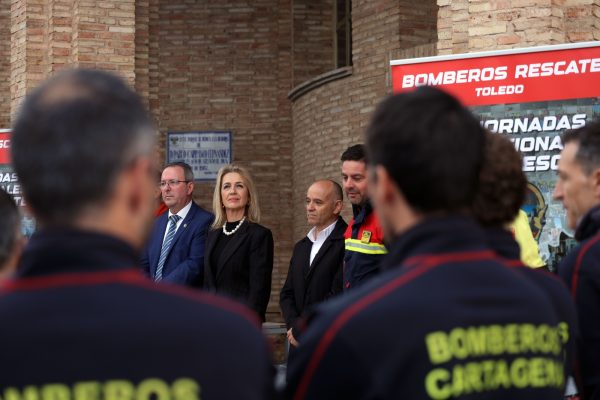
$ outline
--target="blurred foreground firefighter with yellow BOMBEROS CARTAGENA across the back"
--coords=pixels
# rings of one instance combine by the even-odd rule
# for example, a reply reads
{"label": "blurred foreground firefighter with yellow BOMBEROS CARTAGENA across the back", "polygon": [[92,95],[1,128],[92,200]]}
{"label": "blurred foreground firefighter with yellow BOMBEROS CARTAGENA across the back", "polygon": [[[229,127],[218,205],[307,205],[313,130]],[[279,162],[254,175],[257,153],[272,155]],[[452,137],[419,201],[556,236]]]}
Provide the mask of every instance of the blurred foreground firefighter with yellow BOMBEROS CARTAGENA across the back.
{"label": "blurred foreground firefighter with yellow BOMBEROS CARTAGENA across the back", "polygon": [[317,308],[291,360],[294,399],[561,399],[561,321],[468,217],[484,131],[431,87],[367,129],[369,194],[391,244],[378,277]]}

